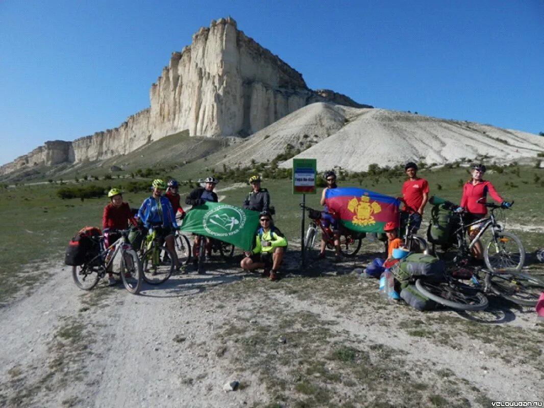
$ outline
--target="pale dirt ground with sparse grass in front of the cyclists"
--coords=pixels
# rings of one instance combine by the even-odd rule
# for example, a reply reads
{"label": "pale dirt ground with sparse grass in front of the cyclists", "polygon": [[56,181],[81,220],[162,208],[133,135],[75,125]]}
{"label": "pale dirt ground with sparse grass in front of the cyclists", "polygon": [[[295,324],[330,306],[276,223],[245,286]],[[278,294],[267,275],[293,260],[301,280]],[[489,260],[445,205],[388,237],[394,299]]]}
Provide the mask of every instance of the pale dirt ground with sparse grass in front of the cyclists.
{"label": "pale dirt ground with sparse grass in front of the cyclists", "polygon": [[[420,313],[323,262],[279,282],[214,259],[141,295],[76,288],[60,263],[0,309],[0,406],[491,406],[542,401],[544,327],[489,311]],[[29,272],[31,273],[31,272]],[[339,275],[339,276],[338,276]],[[224,386],[238,381],[236,391]],[[385,404],[387,405],[387,404]]]}

